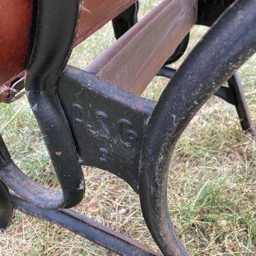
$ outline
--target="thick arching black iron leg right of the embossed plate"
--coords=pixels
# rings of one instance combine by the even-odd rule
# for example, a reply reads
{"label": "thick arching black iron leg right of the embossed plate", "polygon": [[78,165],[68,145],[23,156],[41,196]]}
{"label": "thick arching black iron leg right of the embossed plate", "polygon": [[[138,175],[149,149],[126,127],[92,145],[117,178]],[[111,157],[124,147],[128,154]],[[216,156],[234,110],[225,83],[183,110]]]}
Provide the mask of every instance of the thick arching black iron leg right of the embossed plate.
{"label": "thick arching black iron leg right of the embossed plate", "polygon": [[175,144],[207,99],[256,51],[255,23],[254,0],[230,6],[175,74],[148,121],[141,149],[140,200],[148,228],[164,255],[188,255],[167,205]]}

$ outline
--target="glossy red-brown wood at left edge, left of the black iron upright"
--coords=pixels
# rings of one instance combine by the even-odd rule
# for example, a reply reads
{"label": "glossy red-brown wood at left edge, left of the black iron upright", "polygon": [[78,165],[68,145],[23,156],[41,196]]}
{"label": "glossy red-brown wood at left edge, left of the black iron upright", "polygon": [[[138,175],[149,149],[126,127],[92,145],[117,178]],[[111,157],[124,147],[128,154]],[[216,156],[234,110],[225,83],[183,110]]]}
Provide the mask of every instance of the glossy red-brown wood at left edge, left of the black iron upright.
{"label": "glossy red-brown wood at left edge, left of the black iron upright", "polygon": [[10,83],[24,75],[32,16],[30,0],[0,1],[0,101],[8,95]]}

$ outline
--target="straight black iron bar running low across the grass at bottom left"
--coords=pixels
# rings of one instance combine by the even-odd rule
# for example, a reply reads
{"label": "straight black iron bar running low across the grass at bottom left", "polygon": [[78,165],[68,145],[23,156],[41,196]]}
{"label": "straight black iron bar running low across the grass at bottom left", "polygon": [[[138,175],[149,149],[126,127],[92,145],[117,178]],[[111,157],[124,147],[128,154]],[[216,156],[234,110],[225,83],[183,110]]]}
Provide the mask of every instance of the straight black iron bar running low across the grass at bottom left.
{"label": "straight black iron bar running low across the grass at bottom left", "polygon": [[15,202],[14,206],[17,210],[56,223],[60,227],[75,232],[79,236],[104,246],[119,255],[160,256],[137,241],[115,232],[111,228],[104,227],[97,221],[93,221],[76,211],[47,210],[26,202],[17,195],[12,195],[12,200]]}

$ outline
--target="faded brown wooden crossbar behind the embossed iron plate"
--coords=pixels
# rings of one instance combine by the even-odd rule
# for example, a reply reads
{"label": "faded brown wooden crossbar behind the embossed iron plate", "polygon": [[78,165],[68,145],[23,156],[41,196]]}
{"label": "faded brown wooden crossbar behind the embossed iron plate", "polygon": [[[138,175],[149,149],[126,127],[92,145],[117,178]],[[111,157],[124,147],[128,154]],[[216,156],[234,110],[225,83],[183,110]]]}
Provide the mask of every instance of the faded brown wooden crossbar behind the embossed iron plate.
{"label": "faded brown wooden crossbar behind the embossed iron plate", "polygon": [[197,0],[164,0],[86,71],[140,95],[197,20]]}

